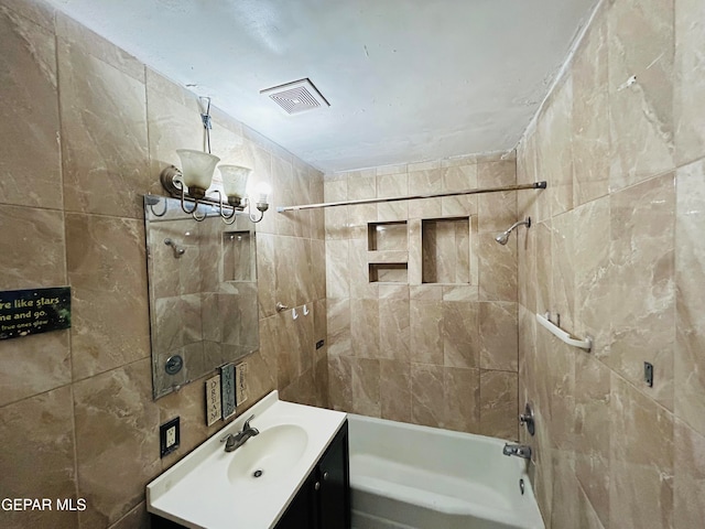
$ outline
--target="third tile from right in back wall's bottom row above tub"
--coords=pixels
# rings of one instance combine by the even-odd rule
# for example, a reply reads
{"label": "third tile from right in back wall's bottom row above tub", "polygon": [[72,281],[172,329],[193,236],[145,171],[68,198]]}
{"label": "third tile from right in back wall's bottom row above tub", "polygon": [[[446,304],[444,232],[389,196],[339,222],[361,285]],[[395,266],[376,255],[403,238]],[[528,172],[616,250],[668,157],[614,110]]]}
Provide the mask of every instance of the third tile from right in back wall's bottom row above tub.
{"label": "third tile from right in back wall's bottom row above tub", "polygon": [[442,427],[444,381],[442,366],[411,363],[411,421],[426,427]]}

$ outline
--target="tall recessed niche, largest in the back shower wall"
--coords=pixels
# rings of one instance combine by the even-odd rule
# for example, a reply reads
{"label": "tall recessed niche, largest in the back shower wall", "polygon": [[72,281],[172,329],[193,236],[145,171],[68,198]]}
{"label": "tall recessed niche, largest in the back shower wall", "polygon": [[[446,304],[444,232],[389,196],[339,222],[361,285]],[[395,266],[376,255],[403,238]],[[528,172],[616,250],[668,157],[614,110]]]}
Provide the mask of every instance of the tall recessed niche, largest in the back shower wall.
{"label": "tall recessed niche, largest in the back shower wall", "polygon": [[422,282],[470,283],[469,217],[421,222]]}

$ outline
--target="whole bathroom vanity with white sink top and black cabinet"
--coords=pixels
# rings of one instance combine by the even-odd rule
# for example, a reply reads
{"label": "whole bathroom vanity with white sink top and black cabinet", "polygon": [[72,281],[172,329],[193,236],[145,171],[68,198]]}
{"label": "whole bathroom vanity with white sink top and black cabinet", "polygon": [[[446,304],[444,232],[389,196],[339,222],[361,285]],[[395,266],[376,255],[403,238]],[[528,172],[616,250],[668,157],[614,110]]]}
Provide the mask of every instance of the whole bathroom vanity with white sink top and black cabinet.
{"label": "whole bathroom vanity with white sink top and black cabinet", "polygon": [[[257,429],[232,452],[251,415]],[[147,486],[152,528],[349,529],[346,414],[272,391]]]}

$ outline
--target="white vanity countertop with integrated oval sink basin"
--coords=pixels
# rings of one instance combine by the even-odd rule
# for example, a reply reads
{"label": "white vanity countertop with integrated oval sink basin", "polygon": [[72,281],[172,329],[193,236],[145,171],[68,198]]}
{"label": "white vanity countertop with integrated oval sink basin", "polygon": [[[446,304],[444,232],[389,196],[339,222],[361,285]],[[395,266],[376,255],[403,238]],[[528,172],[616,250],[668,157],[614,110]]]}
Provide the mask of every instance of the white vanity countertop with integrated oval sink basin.
{"label": "white vanity countertop with integrated oval sink basin", "polygon": [[[251,414],[260,433],[226,452],[220,439]],[[150,483],[147,509],[189,528],[273,527],[345,418],[272,391]]]}

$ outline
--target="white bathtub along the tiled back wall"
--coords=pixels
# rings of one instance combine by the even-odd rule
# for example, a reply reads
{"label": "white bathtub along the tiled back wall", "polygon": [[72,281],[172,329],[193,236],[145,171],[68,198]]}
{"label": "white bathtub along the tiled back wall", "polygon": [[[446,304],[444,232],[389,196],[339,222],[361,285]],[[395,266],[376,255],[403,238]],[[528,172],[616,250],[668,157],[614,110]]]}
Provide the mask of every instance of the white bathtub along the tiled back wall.
{"label": "white bathtub along the tiled back wall", "polygon": [[348,427],[352,529],[544,529],[503,441],[350,413]]}

